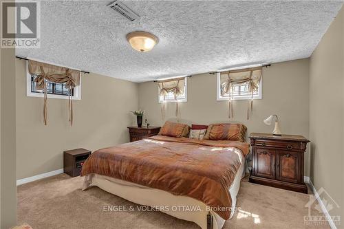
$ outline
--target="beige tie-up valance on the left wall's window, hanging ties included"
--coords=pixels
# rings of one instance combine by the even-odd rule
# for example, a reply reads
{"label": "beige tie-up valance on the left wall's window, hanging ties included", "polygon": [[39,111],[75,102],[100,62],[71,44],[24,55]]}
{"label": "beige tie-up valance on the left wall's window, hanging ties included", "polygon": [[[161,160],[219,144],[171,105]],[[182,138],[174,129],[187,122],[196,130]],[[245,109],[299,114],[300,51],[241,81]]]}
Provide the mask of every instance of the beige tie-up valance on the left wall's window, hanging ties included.
{"label": "beige tie-up valance on the left wall's window, hanging ties included", "polygon": [[47,124],[47,82],[65,83],[65,88],[69,90],[69,122],[73,124],[73,103],[72,103],[72,89],[80,85],[80,71],[69,69],[67,67],[59,67],[47,63],[29,60],[29,73],[35,75],[34,82],[36,89],[44,92],[43,118],[44,124]]}

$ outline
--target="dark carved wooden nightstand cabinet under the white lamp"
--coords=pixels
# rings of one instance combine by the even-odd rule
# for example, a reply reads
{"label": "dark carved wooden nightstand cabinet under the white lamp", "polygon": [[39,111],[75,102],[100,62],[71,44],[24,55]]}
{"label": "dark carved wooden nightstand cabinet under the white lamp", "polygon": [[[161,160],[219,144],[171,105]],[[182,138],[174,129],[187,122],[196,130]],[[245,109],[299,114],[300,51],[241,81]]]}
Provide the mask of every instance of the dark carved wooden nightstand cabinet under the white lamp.
{"label": "dark carved wooden nightstand cabinet under the white lamp", "polygon": [[303,182],[303,155],[309,140],[301,135],[251,133],[250,182],[307,193]]}

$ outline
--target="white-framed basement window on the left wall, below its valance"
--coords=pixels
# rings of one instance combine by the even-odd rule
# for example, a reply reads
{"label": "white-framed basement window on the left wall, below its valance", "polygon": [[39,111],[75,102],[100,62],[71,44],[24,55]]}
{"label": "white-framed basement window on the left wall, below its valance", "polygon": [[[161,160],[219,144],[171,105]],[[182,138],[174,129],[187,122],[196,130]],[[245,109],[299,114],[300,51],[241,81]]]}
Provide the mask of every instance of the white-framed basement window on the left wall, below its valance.
{"label": "white-framed basement window on the left wall, below its valance", "polygon": [[[26,64],[26,96],[30,97],[44,97],[44,91],[36,89],[36,83],[34,79],[37,76],[31,75],[28,71],[28,64]],[[68,99],[69,90],[65,88],[65,83],[53,83],[49,80],[47,83],[47,98],[62,98]],[[80,85],[72,89],[72,99],[80,100],[81,99],[81,82]]]}

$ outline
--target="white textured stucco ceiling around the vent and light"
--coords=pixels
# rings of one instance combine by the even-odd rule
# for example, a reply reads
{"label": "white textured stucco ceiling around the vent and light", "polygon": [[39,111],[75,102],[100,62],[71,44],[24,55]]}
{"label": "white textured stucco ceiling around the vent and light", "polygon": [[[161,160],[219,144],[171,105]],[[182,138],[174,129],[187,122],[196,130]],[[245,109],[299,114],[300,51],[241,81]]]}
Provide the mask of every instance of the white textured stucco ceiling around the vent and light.
{"label": "white textured stucco ceiling around the vent and light", "polygon": [[[235,65],[276,63],[312,54],[343,1],[41,1],[41,48],[17,55],[144,82]],[[151,52],[133,50],[125,35],[158,36]]]}

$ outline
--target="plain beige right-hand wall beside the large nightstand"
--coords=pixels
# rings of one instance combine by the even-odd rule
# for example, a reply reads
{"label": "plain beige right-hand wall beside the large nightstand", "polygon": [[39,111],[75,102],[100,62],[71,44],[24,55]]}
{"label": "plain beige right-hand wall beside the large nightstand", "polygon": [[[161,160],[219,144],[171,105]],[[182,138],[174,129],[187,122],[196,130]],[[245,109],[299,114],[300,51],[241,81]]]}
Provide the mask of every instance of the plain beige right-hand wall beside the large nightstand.
{"label": "plain beige right-hand wall beside the large nightstand", "polygon": [[310,176],[314,186],[344,209],[344,8],[337,15],[310,58]]}

